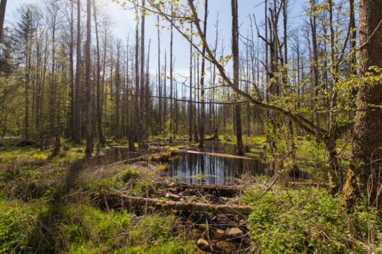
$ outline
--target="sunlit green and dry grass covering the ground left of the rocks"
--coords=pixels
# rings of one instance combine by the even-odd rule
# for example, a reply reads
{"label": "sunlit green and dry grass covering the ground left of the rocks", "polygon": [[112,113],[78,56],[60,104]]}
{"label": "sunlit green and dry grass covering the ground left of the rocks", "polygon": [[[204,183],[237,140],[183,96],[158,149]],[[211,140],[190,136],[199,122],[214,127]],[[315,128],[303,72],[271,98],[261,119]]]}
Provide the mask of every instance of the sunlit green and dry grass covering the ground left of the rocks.
{"label": "sunlit green and dry grass covering the ground left of the rocks", "polygon": [[[70,162],[83,157],[84,146],[65,145],[65,156],[55,158],[50,150],[1,148],[1,254],[194,253],[176,216],[103,210],[92,200],[97,191],[113,188],[146,195],[156,172],[118,164],[74,173]],[[74,182],[71,190],[65,189],[67,179]]]}

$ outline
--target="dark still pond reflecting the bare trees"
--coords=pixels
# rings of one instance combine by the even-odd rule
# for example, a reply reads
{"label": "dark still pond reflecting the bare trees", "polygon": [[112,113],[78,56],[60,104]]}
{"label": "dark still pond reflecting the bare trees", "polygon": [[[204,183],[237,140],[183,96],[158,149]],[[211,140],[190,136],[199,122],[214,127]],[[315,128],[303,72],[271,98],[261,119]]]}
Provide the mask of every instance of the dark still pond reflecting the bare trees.
{"label": "dark still pond reflecting the bare trees", "polygon": [[[235,147],[210,142],[203,148],[192,147],[188,150],[234,155]],[[183,183],[229,185],[246,176],[267,173],[268,168],[258,158],[229,158],[181,152],[179,156],[170,160],[166,176]]]}

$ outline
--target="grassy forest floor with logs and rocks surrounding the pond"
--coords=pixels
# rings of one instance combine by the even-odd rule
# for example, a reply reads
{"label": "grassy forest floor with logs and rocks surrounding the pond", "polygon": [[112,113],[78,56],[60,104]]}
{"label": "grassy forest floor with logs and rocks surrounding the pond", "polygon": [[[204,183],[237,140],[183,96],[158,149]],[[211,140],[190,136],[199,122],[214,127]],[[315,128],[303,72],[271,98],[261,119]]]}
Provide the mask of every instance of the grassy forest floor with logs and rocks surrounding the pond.
{"label": "grassy forest floor with logs and rocks surrounding the pond", "polygon": [[[248,143],[249,155],[270,160],[264,137]],[[232,186],[177,183],[165,176],[166,161],[192,143],[128,155],[126,145],[110,141],[88,161],[71,142],[54,158],[51,149],[0,147],[0,253],[382,251],[373,208],[360,203],[349,214],[324,185],[268,176]],[[306,146],[299,160],[322,164],[321,150],[298,145]]]}

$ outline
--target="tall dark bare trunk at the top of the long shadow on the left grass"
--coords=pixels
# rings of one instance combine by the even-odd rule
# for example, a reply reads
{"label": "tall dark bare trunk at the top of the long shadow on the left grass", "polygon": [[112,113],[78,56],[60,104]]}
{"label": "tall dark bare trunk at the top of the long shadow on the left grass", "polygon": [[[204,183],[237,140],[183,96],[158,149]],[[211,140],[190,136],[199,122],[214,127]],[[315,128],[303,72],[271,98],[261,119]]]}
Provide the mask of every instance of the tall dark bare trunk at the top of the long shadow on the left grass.
{"label": "tall dark bare trunk at the top of the long shadow on the left grass", "polygon": [[90,43],[92,40],[91,27],[91,3],[87,1],[87,19],[86,19],[86,45],[85,45],[85,64],[86,64],[86,150],[85,157],[92,156],[93,153],[93,132],[92,132],[92,80],[91,80],[91,61],[90,61]]}

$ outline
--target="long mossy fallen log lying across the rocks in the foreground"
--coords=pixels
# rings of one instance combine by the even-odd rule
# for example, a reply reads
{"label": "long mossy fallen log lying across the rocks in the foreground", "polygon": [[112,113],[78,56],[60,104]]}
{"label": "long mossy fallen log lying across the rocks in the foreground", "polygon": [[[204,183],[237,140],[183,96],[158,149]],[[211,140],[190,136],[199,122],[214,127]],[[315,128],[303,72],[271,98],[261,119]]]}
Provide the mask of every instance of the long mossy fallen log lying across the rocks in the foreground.
{"label": "long mossy fallen log lying across the rocks in the foreground", "polygon": [[[252,207],[245,205],[221,205],[197,202],[168,201],[156,198],[129,196],[120,192],[104,193],[103,199],[105,201],[107,200],[106,206],[108,207],[125,207],[126,205],[132,205],[141,208],[143,206],[151,206],[158,210],[175,210],[239,215],[249,215],[252,212]],[[100,199],[100,201],[101,200],[102,199]],[[118,200],[120,203],[118,202]]]}

